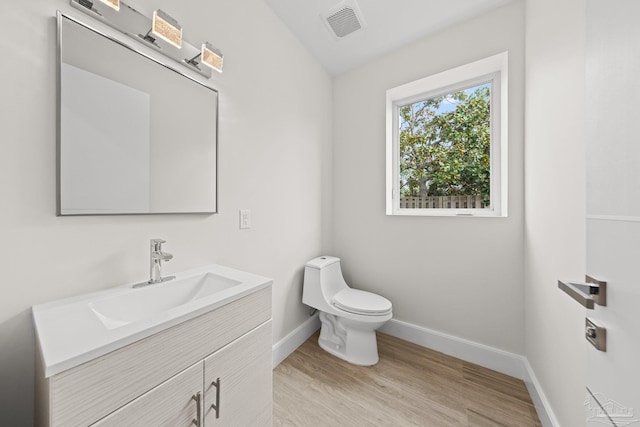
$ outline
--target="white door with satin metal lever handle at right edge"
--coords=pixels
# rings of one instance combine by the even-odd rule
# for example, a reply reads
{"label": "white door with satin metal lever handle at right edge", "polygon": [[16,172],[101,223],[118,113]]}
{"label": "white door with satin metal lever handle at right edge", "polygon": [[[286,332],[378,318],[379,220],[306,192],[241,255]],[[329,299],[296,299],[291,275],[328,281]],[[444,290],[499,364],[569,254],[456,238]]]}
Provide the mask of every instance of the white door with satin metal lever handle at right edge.
{"label": "white door with satin metal lever handle at right edge", "polygon": [[607,282],[587,345],[588,426],[640,426],[640,2],[587,0],[587,274]]}

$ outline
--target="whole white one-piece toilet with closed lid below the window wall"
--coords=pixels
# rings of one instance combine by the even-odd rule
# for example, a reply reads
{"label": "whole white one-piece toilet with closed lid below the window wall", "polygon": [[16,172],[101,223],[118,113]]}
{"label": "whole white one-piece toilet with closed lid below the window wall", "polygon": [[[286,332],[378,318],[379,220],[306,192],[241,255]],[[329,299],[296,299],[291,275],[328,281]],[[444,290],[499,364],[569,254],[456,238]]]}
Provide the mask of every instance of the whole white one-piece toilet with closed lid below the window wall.
{"label": "whole white one-piece toilet with closed lid below the window wall", "polygon": [[376,329],[391,319],[391,301],[351,289],[342,277],[340,258],[307,262],[302,302],[320,312],[320,347],[355,365],[378,363]]}

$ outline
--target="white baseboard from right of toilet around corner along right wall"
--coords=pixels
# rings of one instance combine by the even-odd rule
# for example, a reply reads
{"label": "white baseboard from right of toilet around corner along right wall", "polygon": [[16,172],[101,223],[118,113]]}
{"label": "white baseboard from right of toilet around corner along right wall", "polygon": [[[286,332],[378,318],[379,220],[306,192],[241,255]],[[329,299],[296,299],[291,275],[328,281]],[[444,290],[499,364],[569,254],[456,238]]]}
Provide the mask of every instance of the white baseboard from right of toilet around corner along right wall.
{"label": "white baseboard from right of toilet around corner along right wall", "polygon": [[560,425],[526,357],[395,319],[379,331],[523,380],[542,425]]}

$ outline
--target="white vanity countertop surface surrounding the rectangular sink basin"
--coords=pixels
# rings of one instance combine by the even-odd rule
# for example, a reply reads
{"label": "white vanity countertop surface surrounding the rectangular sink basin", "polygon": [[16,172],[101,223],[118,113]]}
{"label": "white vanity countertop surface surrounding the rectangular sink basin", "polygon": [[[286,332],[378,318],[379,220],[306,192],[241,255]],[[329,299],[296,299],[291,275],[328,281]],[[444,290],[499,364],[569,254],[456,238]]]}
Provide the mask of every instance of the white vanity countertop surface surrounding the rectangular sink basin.
{"label": "white vanity countertop surface surrounding the rectangular sink basin", "polygon": [[139,289],[132,289],[133,284],[128,284],[33,306],[33,320],[45,376],[50,377],[78,366],[273,283],[266,277],[220,265],[188,270],[176,274],[174,280],[205,273],[224,276],[240,284],[111,329],[98,318],[90,303],[144,291],[152,286],[170,286],[173,281]]}

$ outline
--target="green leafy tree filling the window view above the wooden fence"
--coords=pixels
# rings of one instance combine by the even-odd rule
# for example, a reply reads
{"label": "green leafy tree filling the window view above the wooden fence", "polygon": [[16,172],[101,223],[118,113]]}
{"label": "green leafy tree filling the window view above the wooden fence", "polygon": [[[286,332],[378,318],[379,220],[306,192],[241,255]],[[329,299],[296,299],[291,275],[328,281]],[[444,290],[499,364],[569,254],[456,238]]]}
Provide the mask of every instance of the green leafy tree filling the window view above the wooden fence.
{"label": "green leafy tree filling the window view above the wooden fence", "polygon": [[488,197],[488,84],[405,105],[399,125],[402,197]]}

